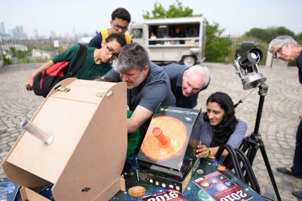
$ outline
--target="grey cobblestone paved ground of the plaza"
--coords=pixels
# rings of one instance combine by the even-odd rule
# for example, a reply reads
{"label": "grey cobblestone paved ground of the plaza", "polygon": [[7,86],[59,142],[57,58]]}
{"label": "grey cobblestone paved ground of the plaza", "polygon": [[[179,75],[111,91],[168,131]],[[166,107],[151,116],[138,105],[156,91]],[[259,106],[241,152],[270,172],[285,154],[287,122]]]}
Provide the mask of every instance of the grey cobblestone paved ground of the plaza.
{"label": "grey cobblestone paved ground of the plaza", "polygon": [[[234,103],[251,90],[243,90],[241,80],[232,64],[205,63],[211,72],[211,83],[199,95],[198,106],[205,111],[206,98],[215,91],[223,91],[232,97]],[[0,68],[0,161],[3,161],[22,130],[24,119],[31,119],[43,101],[25,89],[28,76],[37,65],[5,66]],[[283,175],[276,167],[292,163],[295,132],[302,112],[302,86],[298,82],[297,68],[267,68],[260,66],[260,72],[267,78],[269,86],[265,96],[259,133],[262,134],[275,180],[282,200],[297,200],[292,190],[302,190],[302,179]],[[247,122],[247,136],[254,131],[260,95],[258,88],[236,108],[236,116]],[[261,194],[275,198],[265,163],[260,150],[257,152],[253,169],[260,183]],[[0,168],[0,177],[5,177]]]}

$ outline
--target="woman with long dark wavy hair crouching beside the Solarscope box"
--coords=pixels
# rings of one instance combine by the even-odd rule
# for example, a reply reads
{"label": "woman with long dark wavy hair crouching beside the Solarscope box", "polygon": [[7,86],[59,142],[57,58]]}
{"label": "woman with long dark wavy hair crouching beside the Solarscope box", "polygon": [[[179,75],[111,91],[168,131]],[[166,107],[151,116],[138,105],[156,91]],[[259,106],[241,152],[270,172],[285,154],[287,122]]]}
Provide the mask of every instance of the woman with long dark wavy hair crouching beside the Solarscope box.
{"label": "woman with long dark wavy hair crouching beside the Solarscope box", "polygon": [[[197,146],[196,157],[214,156],[220,145],[229,144],[234,149],[242,142],[247,124],[235,117],[234,103],[223,92],[211,94],[206,102],[207,113],[202,113],[196,121],[192,135],[199,136],[201,144]],[[224,151],[222,156],[228,155]]]}

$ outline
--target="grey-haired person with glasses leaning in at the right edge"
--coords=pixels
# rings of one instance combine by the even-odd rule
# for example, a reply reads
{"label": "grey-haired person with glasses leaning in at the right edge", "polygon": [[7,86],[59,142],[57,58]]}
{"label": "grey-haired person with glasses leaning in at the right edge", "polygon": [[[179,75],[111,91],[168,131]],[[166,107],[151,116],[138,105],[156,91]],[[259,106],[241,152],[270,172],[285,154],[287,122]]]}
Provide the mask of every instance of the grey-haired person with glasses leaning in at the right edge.
{"label": "grey-haired person with glasses leaning in at the right edge", "polygon": [[[291,36],[278,36],[273,39],[268,47],[274,58],[283,61],[296,60],[298,67],[299,82],[302,84],[302,47]],[[302,113],[299,115],[302,120]],[[302,178],[302,121],[300,121],[296,133],[296,145],[291,168],[278,167],[277,170],[283,174]],[[292,194],[302,199],[302,190],[292,191]]]}

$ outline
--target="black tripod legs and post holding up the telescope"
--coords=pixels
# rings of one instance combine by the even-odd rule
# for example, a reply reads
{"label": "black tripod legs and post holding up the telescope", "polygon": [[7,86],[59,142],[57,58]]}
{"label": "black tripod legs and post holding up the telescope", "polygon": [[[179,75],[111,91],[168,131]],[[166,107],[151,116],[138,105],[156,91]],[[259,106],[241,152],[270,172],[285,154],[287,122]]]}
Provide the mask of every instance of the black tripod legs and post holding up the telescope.
{"label": "black tripod legs and post holding up the telescope", "polygon": [[265,147],[263,144],[263,140],[261,137],[261,134],[258,133],[259,126],[260,126],[260,120],[262,115],[262,109],[263,109],[263,103],[264,103],[264,97],[267,95],[268,86],[265,83],[259,84],[259,91],[258,94],[260,95],[259,99],[259,105],[258,105],[258,111],[257,111],[257,118],[255,123],[254,132],[251,133],[250,136],[245,137],[242,141],[242,143],[239,145],[239,149],[241,149],[244,153],[246,153],[251,165],[253,165],[253,161],[255,159],[256,153],[258,149],[260,148],[264,163],[266,165],[266,169],[268,171],[269,177],[271,179],[272,185],[274,187],[277,199],[281,201],[281,197],[277,188],[277,184],[271,169],[271,166],[268,161],[268,157],[265,151]]}

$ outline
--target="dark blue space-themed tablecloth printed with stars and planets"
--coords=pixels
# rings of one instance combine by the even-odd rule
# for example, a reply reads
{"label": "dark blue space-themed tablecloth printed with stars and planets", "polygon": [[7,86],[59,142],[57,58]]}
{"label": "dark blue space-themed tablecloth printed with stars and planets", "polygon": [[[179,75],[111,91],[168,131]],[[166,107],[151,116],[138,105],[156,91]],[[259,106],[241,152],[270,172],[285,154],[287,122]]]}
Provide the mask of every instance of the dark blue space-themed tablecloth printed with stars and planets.
{"label": "dark blue space-themed tablecloth printed with stars and planets", "polygon": [[200,160],[183,193],[138,181],[135,159],[127,158],[123,169],[126,191],[119,191],[110,200],[264,200],[214,157]]}

